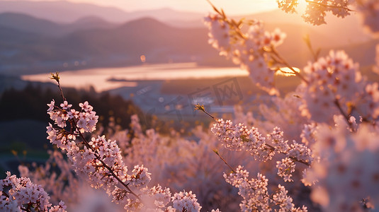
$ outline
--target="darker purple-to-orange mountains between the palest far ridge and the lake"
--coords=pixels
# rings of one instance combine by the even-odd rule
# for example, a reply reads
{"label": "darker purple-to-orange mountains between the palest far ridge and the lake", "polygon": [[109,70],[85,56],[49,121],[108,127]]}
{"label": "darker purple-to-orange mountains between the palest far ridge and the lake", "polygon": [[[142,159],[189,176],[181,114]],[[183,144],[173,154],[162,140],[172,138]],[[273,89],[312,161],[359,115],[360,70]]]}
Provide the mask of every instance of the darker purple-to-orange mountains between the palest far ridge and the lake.
{"label": "darker purple-to-orange mountains between the palest far ridge and the lake", "polygon": [[[11,16],[16,20],[30,19],[28,24],[3,20]],[[18,19],[20,18],[20,19]],[[32,24],[33,23],[33,24]],[[49,23],[49,24],[45,24]],[[39,28],[45,25],[46,28]],[[52,27],[64,33],[52,35]],[[63,27],[62,27],[63,26]],[[266,30],[281,28],[288,36],[278,50],[293,66],[304,66],[311,58],[303,35],[310,35],[312,46],[327,54],[332,47],[346,49],[351,54],[360,50],[373,52],[378,40],[346,42],[340,39],[341,28],[334,37],[323,35],[308,25],[267,22]],[[36,30],[38,29],[38,30]],[[69,30],[67,30],[69,29]],[[125,23],[108,23],[95,16],[84,17],[74,23],[62,24],[26,16],[25,14],[0,14],[0,73],[25,74],[75,70],[92,67],[131,66],[141,64],[145,55],[148,63],[197,62],[208,66],[231,66],[232,62],[218,55],[208,44],[208,29],[183,28],[155,18],[145,17]],[[373,59],[359,57],[370,64]],[[359,61],[358,60],[358,61]]]}

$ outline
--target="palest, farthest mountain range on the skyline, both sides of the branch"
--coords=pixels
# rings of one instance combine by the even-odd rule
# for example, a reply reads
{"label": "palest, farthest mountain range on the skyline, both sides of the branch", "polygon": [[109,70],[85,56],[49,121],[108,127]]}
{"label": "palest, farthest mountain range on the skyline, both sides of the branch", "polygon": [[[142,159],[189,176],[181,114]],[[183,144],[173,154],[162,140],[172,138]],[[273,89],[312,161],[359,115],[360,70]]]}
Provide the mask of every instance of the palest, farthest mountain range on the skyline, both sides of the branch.
{"label": "palest, farthest mountain range on the skyline, both sides of the branch", "polygon": [[[227,11],[227,8],[226,8]],[[161,8],[148,11],[123,11],[120,8],[96,6],[94,4],[72,3],[70,1],[0,1],[0,13],[23,13],[35,18],[50,20],[55,23],[74,23],[86,17],[98,17],[110,23],[125,23],[138,18],[150,17],[168,25],[183,28],[203,27],[203,17],[207,14],[186,11],[174,11],[170,8]],[[246,14],[235,18],[257,18],[266,23],[291,23],[327,35],[339,37],[339,42],[353,43],[368,40],[363,32],[361,20],[351,12],[351,16],[341,19],[328,14],[327,25],[312,26],[305,23],[300,14],[288,14],[283,11],[269,11],[264,13]],[[301,28],[298,28],[301,31]],[[343,33],[344,36],[338,36]]]}

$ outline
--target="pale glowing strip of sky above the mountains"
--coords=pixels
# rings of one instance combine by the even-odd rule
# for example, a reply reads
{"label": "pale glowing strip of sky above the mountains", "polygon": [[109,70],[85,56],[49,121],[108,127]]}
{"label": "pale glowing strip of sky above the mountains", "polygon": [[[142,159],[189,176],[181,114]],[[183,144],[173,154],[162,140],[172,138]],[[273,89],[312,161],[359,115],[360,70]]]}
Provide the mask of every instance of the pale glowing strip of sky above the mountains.
{"label": "pale glowing strip of sky above the mountains", "polygon": [[[30,0],[28,0],[30,1]],[[34,0],[35,1],[35,0]],[[46,0],[45,0],[46,1]],[[55,0],[48,0],[55,1]],[[206,0],[69,0],[77,3],[115,6],[125,11],[140,11],[156,8],[173,8],[180,11],[206,13],[212,11]],[[223,8],[230,15],[243,15],[271,11],[278,8],[276,0],[212,0],[217,8]]]}

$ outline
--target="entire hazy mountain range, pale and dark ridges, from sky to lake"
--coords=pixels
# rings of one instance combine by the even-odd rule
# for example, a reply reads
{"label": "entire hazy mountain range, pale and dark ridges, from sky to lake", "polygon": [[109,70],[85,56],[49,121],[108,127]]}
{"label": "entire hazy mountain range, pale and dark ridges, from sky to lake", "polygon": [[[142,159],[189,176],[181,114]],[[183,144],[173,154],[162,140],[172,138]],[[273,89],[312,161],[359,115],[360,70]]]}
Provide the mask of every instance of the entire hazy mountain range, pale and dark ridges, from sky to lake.
{"label": "entire hazy mountain range, pale and dark ridges, from sky to lake", "polygon": [[[201,16],[171,9],[128,13],[68,1],[0,1],[0,73],[130,66],[141,64],[141,55],[149,63],[231,65],[208,45]],[[268,30],[279,27],[287,33],[279,50],[294,66],[311,58],[302,42],[306,34],[323,54],[329,48],[346,49],[362,65],[373,64],[378,40],[363,32],[355,16],[329,18],[321,27],[281,11],[247,17],[265,20]]]}

